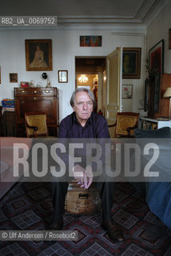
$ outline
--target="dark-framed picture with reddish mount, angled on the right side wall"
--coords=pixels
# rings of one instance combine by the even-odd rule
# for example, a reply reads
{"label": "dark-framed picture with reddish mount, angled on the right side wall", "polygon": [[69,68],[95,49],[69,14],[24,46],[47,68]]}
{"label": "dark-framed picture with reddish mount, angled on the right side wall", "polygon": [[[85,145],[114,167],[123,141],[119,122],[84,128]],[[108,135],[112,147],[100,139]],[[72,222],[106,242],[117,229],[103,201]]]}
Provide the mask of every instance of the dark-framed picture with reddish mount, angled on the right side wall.
{"label": "dark-framed picture with reddish mount, angled on the right side wall", "polygon": [[164,39],[149,50],[149,69],[152,73],[164,72]]}

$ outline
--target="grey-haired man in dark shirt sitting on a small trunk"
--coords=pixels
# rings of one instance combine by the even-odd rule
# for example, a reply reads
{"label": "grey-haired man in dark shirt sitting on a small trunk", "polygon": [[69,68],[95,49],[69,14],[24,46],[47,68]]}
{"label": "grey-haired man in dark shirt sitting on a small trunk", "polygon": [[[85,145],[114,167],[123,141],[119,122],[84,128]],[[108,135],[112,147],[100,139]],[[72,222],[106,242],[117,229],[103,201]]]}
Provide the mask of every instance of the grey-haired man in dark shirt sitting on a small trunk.
{"label": "grey-haired man in dark shirt sitting on a small trunk", "polygon": [[[100,114],[93,113],[96,102],[93,93],[85,88],[74,91],[70,105],[74,112],[64,118],[59,127],[58,138],[109,138],[108,125]],[[70,166],[69,166],[70,167]],[[74,178],[80,186],[88,189],[93,181],[91,166],[82,167],[76,164],[73,168]],[[76,174],[82,175],[76,175]],[[102,226],[107,230],[109,238],[113,242],[121,242],[124,237],[116,223],[113,222],[111,209],[113,206],[113,182],[96,182],[100,192],[102,209]],[[63,214],[65,210],[65,198],[68,182],[53,182],[52,201],[54,215],[50,224],[51,230],[60,230],[63,226]]]}

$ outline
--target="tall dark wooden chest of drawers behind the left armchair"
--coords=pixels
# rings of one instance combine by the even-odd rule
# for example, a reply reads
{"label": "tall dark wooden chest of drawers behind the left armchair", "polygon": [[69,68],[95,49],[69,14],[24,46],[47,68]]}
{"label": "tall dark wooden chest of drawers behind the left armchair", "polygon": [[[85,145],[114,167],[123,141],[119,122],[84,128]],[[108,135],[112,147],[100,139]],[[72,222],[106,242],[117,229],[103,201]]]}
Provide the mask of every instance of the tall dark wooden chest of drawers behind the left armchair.
{"label": "tall dark wooden chest of drawers behind the left armchair", "polygon": [[18,137],[26,137],[25,112],[30,111],[46,113],[49,134],[57,136],[55,125],[59,122],[58,88],[14,88],[14,99]]}

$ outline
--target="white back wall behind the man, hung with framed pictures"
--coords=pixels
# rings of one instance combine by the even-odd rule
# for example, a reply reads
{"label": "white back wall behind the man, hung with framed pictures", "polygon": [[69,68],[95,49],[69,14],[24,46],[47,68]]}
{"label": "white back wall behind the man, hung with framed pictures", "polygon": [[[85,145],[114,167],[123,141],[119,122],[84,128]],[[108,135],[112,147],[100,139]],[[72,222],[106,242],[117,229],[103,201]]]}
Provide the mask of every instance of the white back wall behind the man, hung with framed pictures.
{"label": "white back wall behind the man, hung with framed pictures", "polygon": [[[80,47],[80,35],[102,35],[102,47]],[[70,96],[75,88],[75,56],[106,56],[123,47],[142,47],[141,79],[128,79],[123,83],[133,84],[133,99],[123,101],[123,110],[137,111],[143,98],[145,30],[134,28],[91,28],[76,27],[57,30],[1,30],[0,56],[1,78],[0,101],[2,98],[14,98],[14,87],[21,81],[42,82],[43,71],[26,71],[25,39],[52,39],[53,71],[47,71],[52,86],[59,89],[60,120],[71,113]],[[68,70],[68,83],[58,83],[58,70]],[[18,73],[18,83],[10,83],[9,73]]]}

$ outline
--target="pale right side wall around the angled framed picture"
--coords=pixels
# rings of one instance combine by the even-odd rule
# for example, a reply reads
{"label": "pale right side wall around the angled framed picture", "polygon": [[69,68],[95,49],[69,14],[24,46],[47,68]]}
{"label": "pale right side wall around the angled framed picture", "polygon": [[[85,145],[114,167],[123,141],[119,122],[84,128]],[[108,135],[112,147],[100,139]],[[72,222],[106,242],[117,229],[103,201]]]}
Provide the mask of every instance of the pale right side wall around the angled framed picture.
{"label": "pale right side wall around the angled framed picture", "polygon": [[[147,50],[164,39],[164,73],[171,73],[171,49],[168,49],[169,29],[171,28],[171,1],[161,10],[147,27]],[[147,51],[148,54],[148,51]]]}

